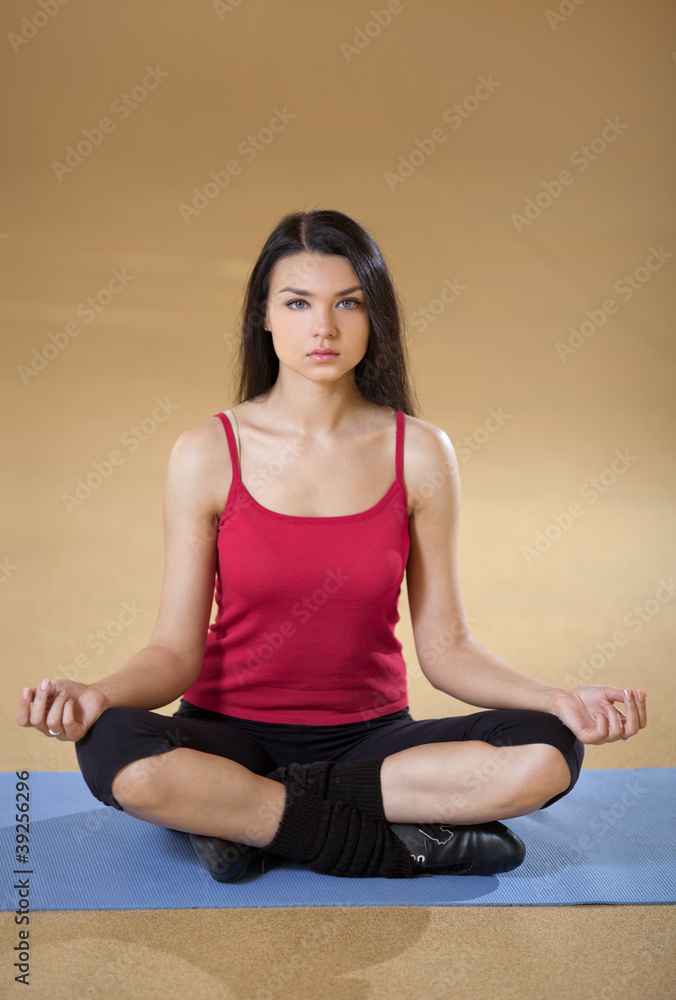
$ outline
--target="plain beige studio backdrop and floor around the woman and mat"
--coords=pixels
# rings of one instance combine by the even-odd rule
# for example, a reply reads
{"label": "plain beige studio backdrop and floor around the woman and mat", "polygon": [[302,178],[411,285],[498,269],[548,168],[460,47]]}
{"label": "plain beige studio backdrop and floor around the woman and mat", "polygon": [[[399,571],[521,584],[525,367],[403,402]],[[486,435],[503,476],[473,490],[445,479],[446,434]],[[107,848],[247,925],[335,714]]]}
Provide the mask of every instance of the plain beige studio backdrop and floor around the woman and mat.
{"label": "plain beige studio backdrop and floor around the woman and mat", "polygon": [[[557,20],[535,0],[402,0],[376,33],[356,0],[241,0],[220,16],[208,3],[123,0],[68,4],[21,43],[22,18],[41,8],[5,5],[2,770],[77,768],[72,745],[14,726],[24,684],[88,651],[78,676],[93,681],[147,642],[171,445],[235,402],[230,362],[248,269],[284,213],[313,207],[373,233],[404,299],[419,415],[447,431],[460,457],[461,578],[475,637],[555,684],[591,676],[643,687],[649,727],[626,745],[589,748],[585,767],[674,766],[676,602],[655,601],[676,569],[674,15],[658,0],[561,8],[569,13]],[[355,32],[371,40],[348,61],[340,43]],[[149,66],[168,76],[123,119],[115,102]],[[475,101],[480,77],[493,92]],[[443,115],[456,102],[468,117],[451,128],[452,112]],[[249,162],[237,147],[276,109],[295,117]],[[72,172],[54,168],[107,115],[114,128],[91,155]],[[592,140],[606,119],[617,134],[601,151]],[[445,141],[391,191],[386,172],[436,128]],[[590,144],[594,160],[580,152]],[[183,221],[179,205],[233,158],[241,173]],[[556,191],[563,170],[571,182],[530,224],[515,224],[528,198],[540,193],[544,205],[545,182]],[[663,263],[638,271],[629,294],[623,276],[655,250]],[[84,322],[78,304],[113,269],[126,269],[128,287]],[[422,329],[420,310],[446,281],[465,288]],[[608,298],[618,308],[604,319]],[[587,310],[600,325],[562,360],[556,345]],[[33,349],[78,316],[81,333],[22,378]],[[132,451],[121,439],[158,398],[176,408]],[[491,410],[509,416],[488,434]],[[115,448],[123,463],[69,512],[63,494]],[[538,532],[555,534],[555,519],[616,451],[631,456],[626,472],[582,500],[583,515],[547,551],[524,554]],[[142,610],[92,653],[88,636],[125,602]],[[414,715],[470,711],[422,677],[405,590],[400,611]],[[676,995],[673,915],[659,906],[36,913],[33,995],[666,1000]]]}

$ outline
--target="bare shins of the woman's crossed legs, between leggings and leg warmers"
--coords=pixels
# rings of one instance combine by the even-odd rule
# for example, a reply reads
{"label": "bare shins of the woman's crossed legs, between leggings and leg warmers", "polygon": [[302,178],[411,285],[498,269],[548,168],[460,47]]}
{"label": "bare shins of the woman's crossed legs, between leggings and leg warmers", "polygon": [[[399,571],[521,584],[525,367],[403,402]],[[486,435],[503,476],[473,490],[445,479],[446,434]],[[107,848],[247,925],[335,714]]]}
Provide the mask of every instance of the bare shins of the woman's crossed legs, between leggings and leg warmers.
{"label": "bare shins of the woman's crossed legs, between leggings and leg warmers", "polygon": [[[522,816],[564,792],[570,781],[561,751],[544,743],[430,743],[387,756],[381,769],[390,823],[469,825]],[[273,839],[285,799],[280,782],[187,747],[132,761],[118,771],[111,789],[138,819],[254,847]]]}

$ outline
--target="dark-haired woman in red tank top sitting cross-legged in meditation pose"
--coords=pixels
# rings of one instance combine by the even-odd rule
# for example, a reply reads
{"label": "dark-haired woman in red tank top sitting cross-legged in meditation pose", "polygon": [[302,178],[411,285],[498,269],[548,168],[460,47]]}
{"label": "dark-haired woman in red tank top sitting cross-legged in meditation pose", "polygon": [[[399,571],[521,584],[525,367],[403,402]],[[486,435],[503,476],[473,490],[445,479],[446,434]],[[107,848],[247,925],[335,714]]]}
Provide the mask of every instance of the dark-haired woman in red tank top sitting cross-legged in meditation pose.
{"label": "dark-haired woman in red tank top sitting cross-legged in meditation pose", "polygon": [[[75,741],[93,795],[190,833],[219,881],[256,856],[349,877],[509,871],[525,848],[500,821],[567,794],[583,744],[646,724],[642,691],[557,688],[472,638],[457,461],[414,415],[400,317],[357,222],[281,220],[247,287],[240,402],[171,451],[148,645],[20,698],[19,725]],[[404,569],[422,671],[483,711],[411,718]]]}

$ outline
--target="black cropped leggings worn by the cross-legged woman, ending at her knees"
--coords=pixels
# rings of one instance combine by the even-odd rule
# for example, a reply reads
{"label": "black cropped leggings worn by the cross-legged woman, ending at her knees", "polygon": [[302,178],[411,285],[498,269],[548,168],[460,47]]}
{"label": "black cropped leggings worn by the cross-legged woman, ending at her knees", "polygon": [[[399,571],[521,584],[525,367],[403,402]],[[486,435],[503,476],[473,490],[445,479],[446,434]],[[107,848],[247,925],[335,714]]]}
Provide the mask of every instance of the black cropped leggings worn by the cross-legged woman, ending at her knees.
{"label": "black cropped leggings worn by the cross-legged woman, ending at her knees", "polygon": [[567,795],[580,775],[584,746],[567,726],[546,712],[490,709],[450,719],[413,720],[408,708],[366,722],[296,726],[253,722],[198,708],[181,700],[173,716],[143,708],[109,708],[75,744],[78,764],[92,795],[122,809],[111,791],[113,778],[132,761],[189,747],[237,761],[256,774],[295,761],[367,760],[425,743],[483,740],[493,746],[549,743],[570,768],[570,785],[543,806]]}

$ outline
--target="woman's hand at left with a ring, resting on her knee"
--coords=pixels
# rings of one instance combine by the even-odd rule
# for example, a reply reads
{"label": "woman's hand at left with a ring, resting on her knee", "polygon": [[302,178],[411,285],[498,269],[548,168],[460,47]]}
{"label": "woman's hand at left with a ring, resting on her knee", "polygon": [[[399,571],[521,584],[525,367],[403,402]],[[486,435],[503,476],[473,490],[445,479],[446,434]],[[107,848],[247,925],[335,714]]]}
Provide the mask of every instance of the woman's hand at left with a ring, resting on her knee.
{"label": "woman's hand at left with a ring, resting on her knee", "polygon": [[106,696],[88,684],[46,677],[39,687],[23,689],[16,721],[50,738],[76,742],[107,707]]}

